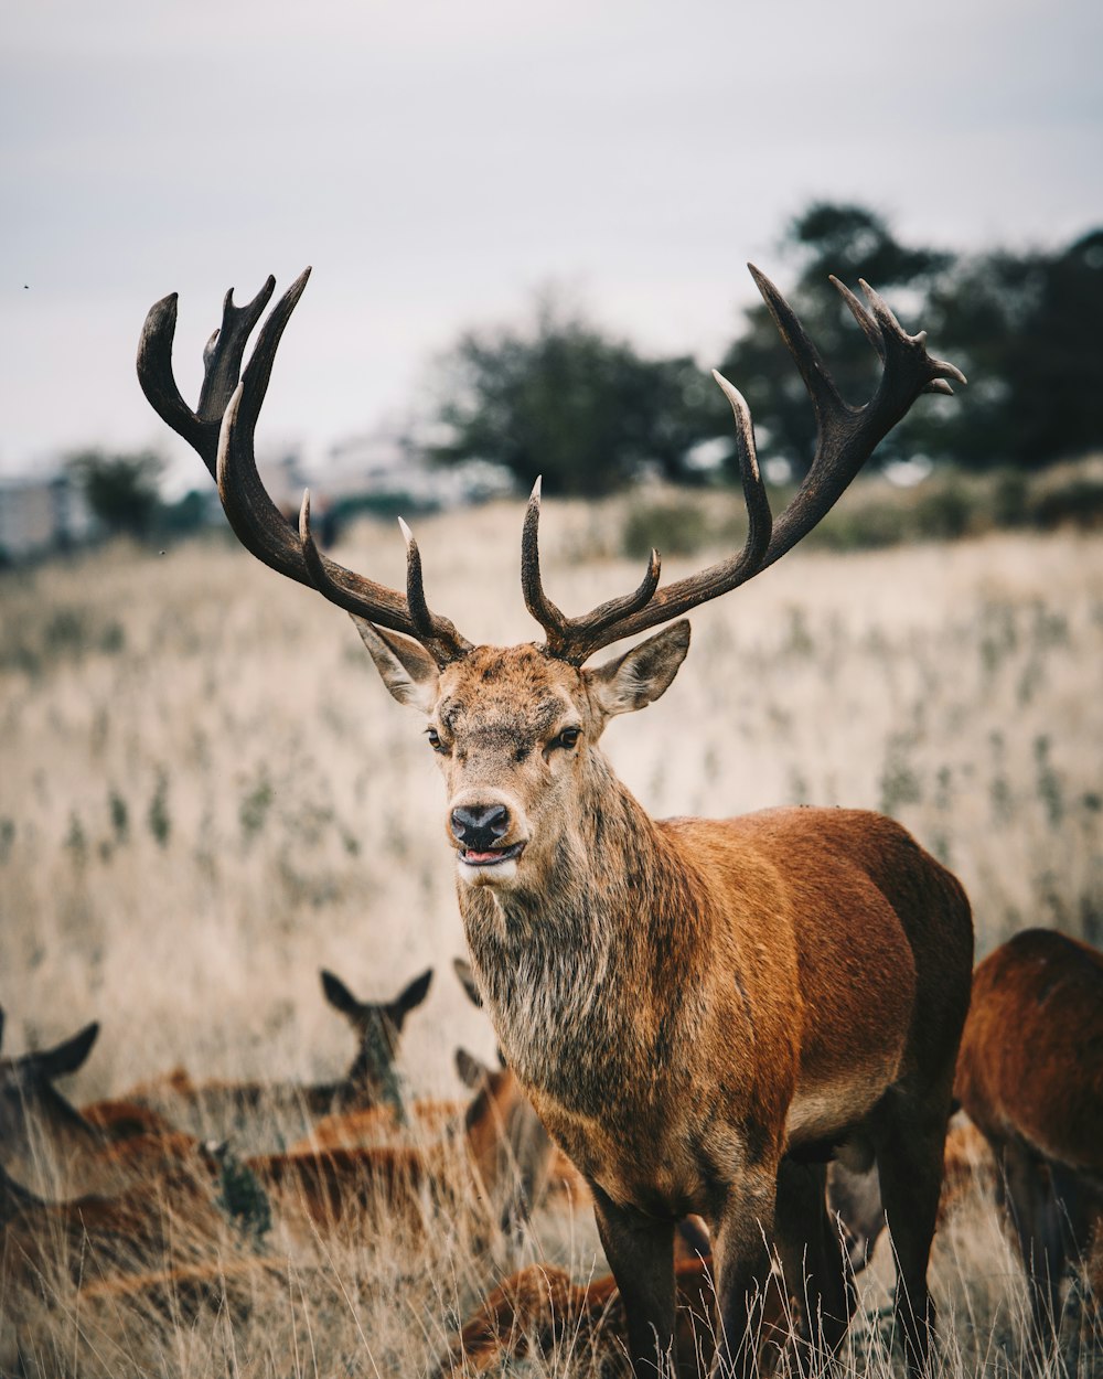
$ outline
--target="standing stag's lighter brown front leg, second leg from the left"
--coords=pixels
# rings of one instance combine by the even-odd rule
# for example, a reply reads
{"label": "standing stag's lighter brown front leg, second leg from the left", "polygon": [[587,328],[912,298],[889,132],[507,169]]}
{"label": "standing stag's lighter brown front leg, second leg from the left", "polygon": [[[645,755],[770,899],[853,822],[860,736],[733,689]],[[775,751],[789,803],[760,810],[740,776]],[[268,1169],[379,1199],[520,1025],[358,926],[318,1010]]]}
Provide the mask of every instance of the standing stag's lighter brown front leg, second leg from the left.
{"label": "standing stag's lighter brown front leg, second leg from the left", "polygon": [[776,1168],[756,1165],[728,1190],[713,1244],[717,1347],[713,1379],[750,1379],[771,1273]]}

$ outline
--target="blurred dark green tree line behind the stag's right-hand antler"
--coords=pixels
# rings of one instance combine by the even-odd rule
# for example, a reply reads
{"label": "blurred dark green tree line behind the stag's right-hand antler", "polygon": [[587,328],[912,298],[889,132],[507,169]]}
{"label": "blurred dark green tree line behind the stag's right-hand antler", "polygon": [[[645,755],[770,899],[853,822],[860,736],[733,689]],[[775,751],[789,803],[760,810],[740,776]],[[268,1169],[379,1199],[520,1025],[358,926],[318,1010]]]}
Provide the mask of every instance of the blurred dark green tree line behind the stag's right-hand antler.
{"label": "blurred dark green tree line behind the stag's right-hand antler", "polygon": [[[782,250],[793,273],[779,285],[851,401],[870,396],[878,365],[829,273],[873,284],[969,378],[955,399],[924,397],[877,462],[1035,469],[1103,448],[1103,229],[1053,252],[965,255],[902,244],[864,207],[816,203]],[[720,368],[750,404],[762,456],[802,474],[812,408],[764,305],[745,312]],[[432,422],[433,443],[411,444],[434,461],[495,461],[558,494],[609,492],[648,470],[700,481],[706,455],[735,477],[727,403],[695,360],[644,357],[553,301],[527,325],[463,334],[438,361]]]}

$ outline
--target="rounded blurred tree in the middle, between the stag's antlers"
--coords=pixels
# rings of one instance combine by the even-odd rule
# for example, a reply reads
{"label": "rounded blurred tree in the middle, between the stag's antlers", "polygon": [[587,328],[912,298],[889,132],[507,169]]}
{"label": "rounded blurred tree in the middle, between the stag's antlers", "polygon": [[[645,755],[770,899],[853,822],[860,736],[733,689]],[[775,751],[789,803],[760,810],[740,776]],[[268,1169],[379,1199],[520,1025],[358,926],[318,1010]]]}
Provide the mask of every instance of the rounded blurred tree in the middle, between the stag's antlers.
{"label": "rounded blurred tree in the middle, between the stag's antlers", "polygon": [[647,466],[691,479],[687,454],[716,430],[694,360],[644,359],[547,299],[528,327],[461,336],[443,376],[447,440],[422,448],[495,461],[525,487],[545,474],[560,494],[605,494]]}

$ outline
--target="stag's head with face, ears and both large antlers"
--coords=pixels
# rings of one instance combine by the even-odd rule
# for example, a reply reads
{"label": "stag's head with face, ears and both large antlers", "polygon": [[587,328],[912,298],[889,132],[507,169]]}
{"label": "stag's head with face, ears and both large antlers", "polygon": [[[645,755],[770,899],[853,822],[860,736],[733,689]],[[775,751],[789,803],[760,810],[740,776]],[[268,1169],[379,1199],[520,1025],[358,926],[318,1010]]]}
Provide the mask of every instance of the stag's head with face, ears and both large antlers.
{"label": "stag's head with face, ears and both large antlers", "polygon": [[[543,589],[539,561],[540,485],[534,488],[521,543],[521,589],[545,632],[543,643],[476,647],[425,600],[422,561],[412,532],[407,543],[405,594],[346,570],[318,552],[303,495],[298,532],[266,494],[254,458],[254,429],[276,349],[309,276],[277,302],[261,327],[239,381],[248,336],[273,290],[269,279],[245,306],[229,292],[222,327],[207,345],[196,411],[172,379],[175,295],[157,302],[138,350],[138,376],[154,410],[183,436],[218,483],[226,516],[241,543],[280,574],[316,587],[352,614],[382,678],[398,703],[425,721],[448,794],[444,830],[465,887],[539,888],[565,854],[580,847],[587,798],[611,779],[598,749],[609,718],[658,699],[688,647],[684,614],[717,598],[779,560],[831,509],[877,443],[922,392],[950,393],[964,382],[953,364],[932,359],[925,334],[907,335],[885,302],[862,283],[866,303],[831,279],[881,359],[867,403],[840,396],[796,313],[757,269],[751,274],[808,389],[818,423],[815,458],[800,491],[773,523],[743,397],[714,378],[735,416],[747,539],[738,554],[659,587],[652,552],[640,586],[591,612],[569,618]],[[598,666],[585,662],[611,643],[670,623]]]}

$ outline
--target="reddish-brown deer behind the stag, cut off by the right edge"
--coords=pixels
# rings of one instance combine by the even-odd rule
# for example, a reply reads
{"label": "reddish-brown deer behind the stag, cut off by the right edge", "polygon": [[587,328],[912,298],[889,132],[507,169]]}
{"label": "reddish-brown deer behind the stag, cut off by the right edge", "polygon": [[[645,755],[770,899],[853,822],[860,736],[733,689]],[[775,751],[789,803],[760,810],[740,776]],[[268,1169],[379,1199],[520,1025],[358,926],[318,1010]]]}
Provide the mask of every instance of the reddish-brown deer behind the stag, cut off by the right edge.
{"label": "reddish-brown deer behind the stag, cut off by the right edge", "polygon": [[1088,1260],[1103,1299],[1103,953],[1053,929],[990,953],[973,974],[955,1092],[1002,1171],[1044,1349],[1070,1260]]}

